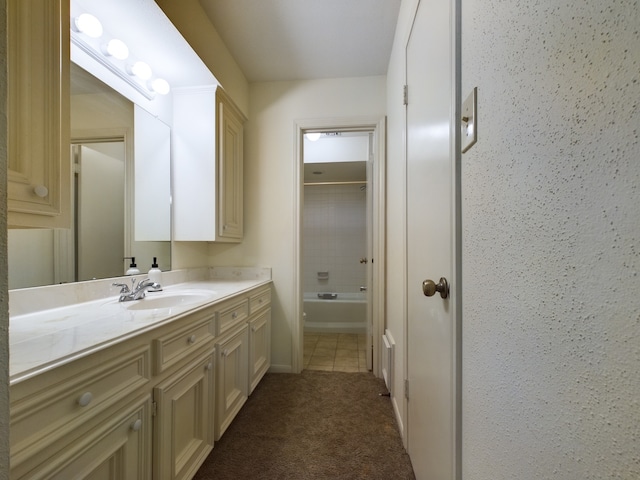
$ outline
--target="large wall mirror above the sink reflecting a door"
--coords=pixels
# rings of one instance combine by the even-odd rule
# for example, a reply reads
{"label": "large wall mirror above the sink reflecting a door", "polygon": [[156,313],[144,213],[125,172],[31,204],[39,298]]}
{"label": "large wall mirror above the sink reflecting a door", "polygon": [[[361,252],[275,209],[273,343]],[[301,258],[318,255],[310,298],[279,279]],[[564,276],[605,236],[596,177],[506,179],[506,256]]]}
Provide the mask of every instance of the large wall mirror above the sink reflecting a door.
{"label": "large wall mirror above the sink reflecting a door", "polygon": [[[169,127],[139,109],[146,132],[139,137],[131,101],[75,64],[71,78],[74,225],[72,230],[9,230],[10,289],[124,275],[130,263],[125,257],[132,256],[143,273],[153,257],[162,270],[170,269]],[[146,144],[158,148],[141,158],[145,166],[139,168],[134,134],[135,143],[144,145],[146,136],[157,132],[162,133]],[[135,153],[143,157],[137,148]],[[135,190],[145,178],[164,190],[146,190],[135,215],[151,219],[161,234],[136,233]]]}

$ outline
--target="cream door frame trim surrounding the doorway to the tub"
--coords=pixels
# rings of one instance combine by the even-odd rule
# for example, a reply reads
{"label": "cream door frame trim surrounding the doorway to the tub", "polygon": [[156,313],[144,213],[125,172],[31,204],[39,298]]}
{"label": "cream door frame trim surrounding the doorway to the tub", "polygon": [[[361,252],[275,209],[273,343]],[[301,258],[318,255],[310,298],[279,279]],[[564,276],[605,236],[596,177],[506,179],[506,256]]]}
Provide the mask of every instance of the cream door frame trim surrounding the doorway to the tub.
{"label": "cream door frame trim surrounding the doorway to the tub", "polygon": [[[354,258],[354,262],[358,267],[362,267],[365,271],[364,281],[358,281],[357,292],[362,293],[366,299],[366,333],[364,338],[364,348],[367,362],[367,369],[373,371],[376,376],[380,376],[380,343],[382,339],[382,330],[384,325],[384,152],[385,152],[385,119],[382,118],[366,118],[366,119],[322,119],[300,121],[296,123],[296,180],[299,188],[295,198],[295,228],[296,239],[294,245],[294,264],[296,272],[296,311],[298,312],[298,321],[294,325],[293,331],[293,371],[301,372],[304,368],[304,200],[305,200],[305,181],[304,181],[304,141],[305,134],[309,133],[329,133],[334,136],[354,136],[364,135],[366,139],[369,153],[365,159],[365,176],[364,180],[359,180],[358,184],[352,184],[351,189],[356,189],[361,196],[368,198],[365,200],[367,210],[366,218],[370,221],[366,222],[368,229],[365,233],[366,250],[363,254],[358,254]],[[340,135],[336,135],[340,134]],[[311,173],[313,175],[313,173]],[[333,185],[334,187],[337,185]],[[360,187],[364,187],[360,190]],[[310,187],[318,188],[318,187]],[[351,255],[353,256],[353,254]],[[362,263],[359,263],[362,260]],[[308,276],[314,277],[316,285],[322,285],[323,281],[329,285],[331,271],[328,269],[313,268],[308,272]],[[328,278],[321,278],[326,277]],[[365,283],[361,285],[360,283]],[[360,287],[363,287],[362,292]],[[353,289],[353,285],[351,287]],[[331,288],[329,288],[331,290]],[[307,292],[329,294],[340,293],[332,291],[323,292]],[[333,300],[336,300],[334,298]],[[319,299],[322,300],[322,299]],[[327,299],[331,302],[331,299]],[[349,328],[344,327],[343,328]]]}

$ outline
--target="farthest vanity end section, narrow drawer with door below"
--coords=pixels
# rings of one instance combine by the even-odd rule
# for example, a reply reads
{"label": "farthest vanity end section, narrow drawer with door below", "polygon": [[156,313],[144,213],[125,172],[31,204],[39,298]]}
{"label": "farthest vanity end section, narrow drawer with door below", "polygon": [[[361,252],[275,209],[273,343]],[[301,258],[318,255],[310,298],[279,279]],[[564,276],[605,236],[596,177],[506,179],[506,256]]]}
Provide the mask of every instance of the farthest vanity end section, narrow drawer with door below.
{"label": "farthest vanity end section, narrow drawer with door below", "polygon": [[271,366],[271,288],[249,298],[249,395]]}

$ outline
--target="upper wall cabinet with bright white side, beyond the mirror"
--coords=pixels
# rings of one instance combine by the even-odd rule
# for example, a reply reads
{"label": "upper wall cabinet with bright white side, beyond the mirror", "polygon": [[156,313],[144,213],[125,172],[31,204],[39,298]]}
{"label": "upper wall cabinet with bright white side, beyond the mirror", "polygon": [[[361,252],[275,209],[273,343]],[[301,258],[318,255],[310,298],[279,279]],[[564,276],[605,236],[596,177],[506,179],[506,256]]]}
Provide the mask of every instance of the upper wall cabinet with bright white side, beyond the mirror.
{"label": "upper wall cabinet with bright white side, beyond the mirror", "polygon": [[241,242],[243,124],[218,87],[174,90],[174,240]]}

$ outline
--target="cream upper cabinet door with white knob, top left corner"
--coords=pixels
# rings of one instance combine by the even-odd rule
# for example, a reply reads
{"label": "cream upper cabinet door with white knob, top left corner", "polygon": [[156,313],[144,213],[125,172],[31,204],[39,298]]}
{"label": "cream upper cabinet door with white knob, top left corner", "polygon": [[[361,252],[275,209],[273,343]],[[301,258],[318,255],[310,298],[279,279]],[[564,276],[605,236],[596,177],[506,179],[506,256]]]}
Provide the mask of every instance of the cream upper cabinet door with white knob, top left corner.
{"label": "cream upper cabinet door with white knob, top left corner", "polygon": [[8,0],[8,225],[70,227],[69,1]]}

